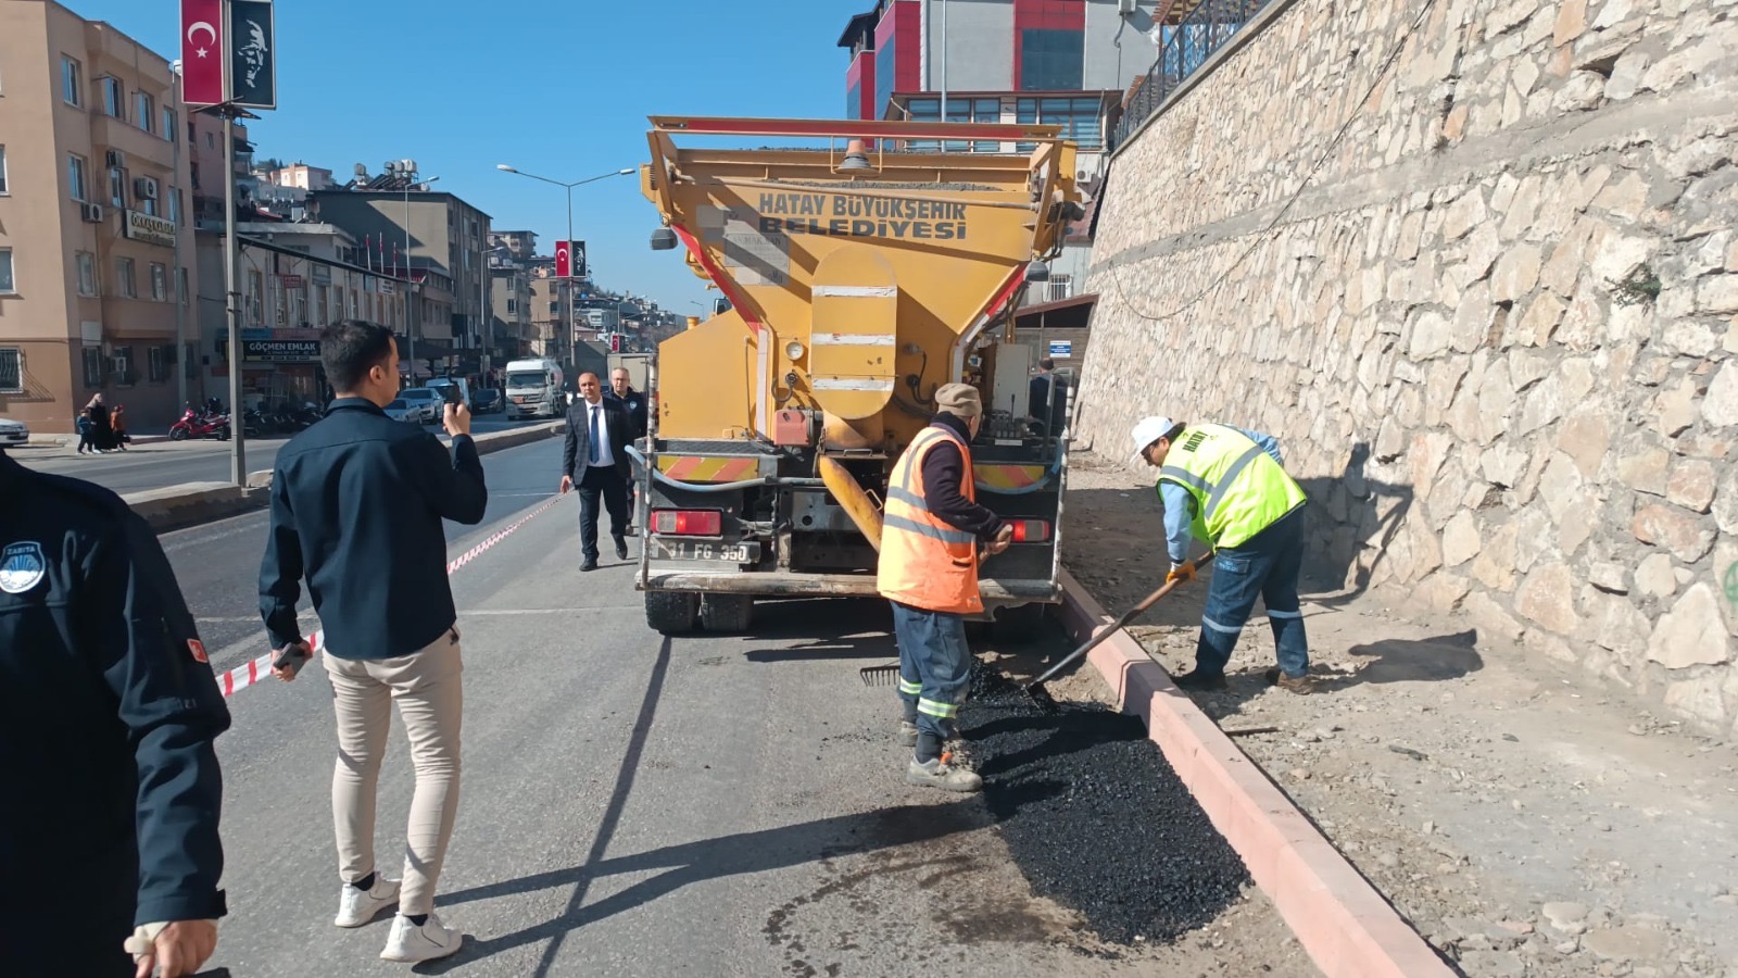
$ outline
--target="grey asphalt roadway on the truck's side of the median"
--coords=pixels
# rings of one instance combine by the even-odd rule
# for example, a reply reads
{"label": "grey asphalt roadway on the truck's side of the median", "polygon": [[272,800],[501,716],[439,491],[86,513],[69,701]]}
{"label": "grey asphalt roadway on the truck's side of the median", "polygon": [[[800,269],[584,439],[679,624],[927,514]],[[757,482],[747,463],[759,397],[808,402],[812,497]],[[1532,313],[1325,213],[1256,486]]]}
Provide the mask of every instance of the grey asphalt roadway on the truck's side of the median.
{"label": "grey asphalt roadway on the truck's side of the median", "polygon": [[[553,489],[560,444],[485,458],[466,550]],[[647,630],[633,567],[579,573],[575,496],[452,576],[466,660],[464,795],[436,908],[464,950],[415,973],[1109,975],[1036,898],[977,799],[909,788],[881,602],[791,600],[751,637]],[[261,517],[167,534],[214,667],[259,654]],[[638,545],[631,545],[638,552]],[[219,653],[219,649],[222,649]],[[210,966],[236,978],[403,975],[389,922],[332,926],[335,754],[316,660],[231,701]],[[400,875],[412,773],[398,720],[381,870]],[[1060,790],[1060,788],[1058,788]],[[1137,955],[1138,957],[1138,955]]]}

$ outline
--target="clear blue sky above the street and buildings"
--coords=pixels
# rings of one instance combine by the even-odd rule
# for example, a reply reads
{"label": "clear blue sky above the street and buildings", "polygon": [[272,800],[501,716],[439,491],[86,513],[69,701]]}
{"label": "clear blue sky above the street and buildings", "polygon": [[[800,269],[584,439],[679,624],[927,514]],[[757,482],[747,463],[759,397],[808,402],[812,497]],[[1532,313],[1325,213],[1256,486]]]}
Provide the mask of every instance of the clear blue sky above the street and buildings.
{"label": "clear blue sky above the street and buildings", "polygon": [[[167,59],[177,0],[61,0]],[[549,252],[567,228],[560,181],[647,160],[648,115],[839,118],[852,14],[871,0],[278,0],[278,110],[249,136],[257,158],[348,179],[414,158],[497,230],[530,228]],[[574,191],[574,237],[596,280],[695,311],[704,285],[680,251],[647,247],[657,211],[638,178]],[[716,292],[714,292],[716,294]]]}

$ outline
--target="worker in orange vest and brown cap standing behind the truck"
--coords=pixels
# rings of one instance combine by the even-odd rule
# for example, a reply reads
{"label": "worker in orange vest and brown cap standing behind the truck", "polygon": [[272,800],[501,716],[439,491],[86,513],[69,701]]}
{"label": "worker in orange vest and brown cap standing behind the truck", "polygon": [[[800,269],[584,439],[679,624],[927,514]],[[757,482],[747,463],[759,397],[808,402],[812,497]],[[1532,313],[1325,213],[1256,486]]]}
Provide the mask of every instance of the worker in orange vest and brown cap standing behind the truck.
{"label": "worker in orange vest and brown cap standing behind the truck", "polygon": [[899,698],[905,710],[899,740],[914,747],[905,781],[947,792],[975,792],[984,780],[956,767],[942,745],[972,684],[966,614],[982,614],[977,567],[1001,553],[1013,527],[977,503],[972,439],[984,402],[972,385],[935,392],[937,414],[893,465],[881,519],[876,588],[893,602],[899,640]]}

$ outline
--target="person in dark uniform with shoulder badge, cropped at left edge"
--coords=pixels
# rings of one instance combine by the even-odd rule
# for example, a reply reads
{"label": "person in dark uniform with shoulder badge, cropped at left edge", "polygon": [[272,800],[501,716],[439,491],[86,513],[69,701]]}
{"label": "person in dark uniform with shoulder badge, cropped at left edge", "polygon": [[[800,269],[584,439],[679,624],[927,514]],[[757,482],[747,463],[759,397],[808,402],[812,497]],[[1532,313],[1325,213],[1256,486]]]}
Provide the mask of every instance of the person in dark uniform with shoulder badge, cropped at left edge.
{"label": "person in dark uniform with shoulder badge, cropped at left edge", "polygon": [[0,973],[200,969],[226,912],[228,727],[146,522],[0,451]]}

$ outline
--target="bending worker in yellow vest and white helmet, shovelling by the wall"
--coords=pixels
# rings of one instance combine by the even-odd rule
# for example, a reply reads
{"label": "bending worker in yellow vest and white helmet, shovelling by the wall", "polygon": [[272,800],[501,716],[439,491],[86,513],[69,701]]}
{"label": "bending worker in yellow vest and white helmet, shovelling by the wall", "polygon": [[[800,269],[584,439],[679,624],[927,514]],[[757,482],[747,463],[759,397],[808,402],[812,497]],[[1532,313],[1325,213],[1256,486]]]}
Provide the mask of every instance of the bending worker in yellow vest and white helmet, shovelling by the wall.
{"label": "bending worker in yellow vest and white helmet, shovelling by the wall", "polygon": [[1260,432],[1182,425],[1170,418],[1142,418],[1133,439],[1135,458],[1159,470],[1158,491],[1171,555],[1166,579],[1194,578],[1191,538],[1217,553],[1196,667],[1177,677],[1177,687],[1225,687],[1231,651],[1260,597],[1279,658],[1279,668],[1267,670],[1269,686],[1309,693],[1309,639],[1298,609],[1305,496],[1286,475],[1279,442]]}

